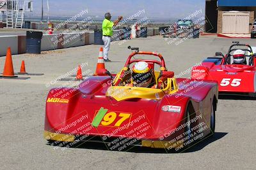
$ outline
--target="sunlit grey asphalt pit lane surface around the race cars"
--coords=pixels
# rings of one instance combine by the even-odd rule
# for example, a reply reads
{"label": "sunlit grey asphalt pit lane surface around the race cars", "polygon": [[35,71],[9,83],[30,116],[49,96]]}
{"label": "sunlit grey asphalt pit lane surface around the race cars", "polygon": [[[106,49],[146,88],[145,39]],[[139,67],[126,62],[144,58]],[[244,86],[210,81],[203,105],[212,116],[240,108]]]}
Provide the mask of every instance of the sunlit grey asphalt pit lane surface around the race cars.
{"label": "sunlit grey asphalt pit lane surface around the race cars", "polygon": [[[113,44],[106,68],[117,73],[131,53],[127,46],[157,51],[166,67],[180,74],[215,52],[227,52],[232,41],[256,46],[254,39],[224,39],[203,36],[180,45],[169,45],[161,36],[132,39]],[[185,153],[134,148],[129,152],[104,149],[98,144],[54,149],[43,138],[45,100],[52,87],[47,83],[88,62],[84,68],[95,71],[99,46],[88,45],[43,52],[42,55],[13,55],[15,72],[25,60],[29,80],[0,80],[0,164],[1,169],[255,169],[256,101],[249,98],[221,97],[216,112],[216,134]],[[4,57],[0,57],[0,69]],[[189,77],[184,74],[182,77]]]}

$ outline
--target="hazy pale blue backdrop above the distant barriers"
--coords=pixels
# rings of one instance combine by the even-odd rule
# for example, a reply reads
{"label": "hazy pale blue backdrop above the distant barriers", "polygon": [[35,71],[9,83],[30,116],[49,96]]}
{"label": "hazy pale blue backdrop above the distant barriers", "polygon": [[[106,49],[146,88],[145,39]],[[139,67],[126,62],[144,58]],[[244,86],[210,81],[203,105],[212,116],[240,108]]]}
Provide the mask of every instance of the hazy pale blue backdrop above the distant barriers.
{"label": "hazy pale blue backdrop above the distant barriers", "polygon": [[[47,13],[46,0],[45,13]],[[88,15],[103,17],[106,11],[113,16],[129,16],[145,9],[152,18],[186,17],[195,10],[205,10],[205,0],[49,0],[50,15],[70,16],[88,9]],[[34,14],[40,15],[41,0],[34,0]]]}

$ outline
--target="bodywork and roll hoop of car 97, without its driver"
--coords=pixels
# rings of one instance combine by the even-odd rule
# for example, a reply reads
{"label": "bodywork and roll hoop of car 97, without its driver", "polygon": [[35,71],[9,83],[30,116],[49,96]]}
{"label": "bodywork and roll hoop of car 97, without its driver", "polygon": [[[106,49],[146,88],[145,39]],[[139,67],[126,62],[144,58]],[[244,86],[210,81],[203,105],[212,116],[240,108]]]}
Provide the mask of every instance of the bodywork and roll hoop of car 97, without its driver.
{"label": "bodywork and roll hoop of car 97, without its driver", "polygon": [[[161,61],[132,60],[134,55],[153,55]],[[166,89],[136,87],[137,89],[134,88],[132,91],[129,87],[118,87],[122,78],[117,77],[114,84],[117,88],[114,89],[131,92],[132,97],[120,97],[123,100],[116,100],[115,97],[106,95],[109,94],[107,91],[112,85],[111,78],[104,76],[106,70],[100,70],[102,76],[92,76],[77,88],[52,89],[46,102],[45,138],[65,141],[62,140],[62,134],[67,134],[72,138],[100,137],[104,141],[107,136],[141,139],[141,143],[144,141],[144,146],[150,147],[151,141],[168,141],[184,135],[185,131],[188,132],[184,124],[188,124],[190,120],[193,122],[189,125],[198,128],[194,130],[203,134],[198,138],[202,139],[210,134],[211,115],[214,113],[213,109],[216,109],[214,106],[218,99],[217,83],[184,78],[171,79],[174,73],[167,71],[163,56],[157,52],[133,52],[129,55],[120,75],[125,74],[130,64],[140,61],[148,62],[150,66],[154,64],[160,66],[159,79],[162,80],[161,83],[168,82]],[[162,85],[164,87],[164,84]],[[113,87],[109,90],[113,90]],[[125,95],[125,92],[119,91],[118,95]],[[204,129],[200,126],[204,126]],[[54,138],[54,135],[58,136],[58,139]],[[180,138],[177,140],[181,140]]]}

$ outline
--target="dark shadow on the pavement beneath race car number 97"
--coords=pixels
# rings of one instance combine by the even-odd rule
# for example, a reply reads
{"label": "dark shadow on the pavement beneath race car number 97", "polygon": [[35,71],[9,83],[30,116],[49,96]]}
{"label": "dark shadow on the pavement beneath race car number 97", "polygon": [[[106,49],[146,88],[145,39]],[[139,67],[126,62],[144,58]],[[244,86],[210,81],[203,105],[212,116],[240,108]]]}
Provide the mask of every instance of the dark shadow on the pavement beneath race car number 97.
{"label": "dark shadow on the pavement beneath race car number 97", "polygon": [[[202,150],[205,146],[213,143],[214,141],[217,141],[218,139],[223,138],[226,134],[225,132],[215,132],[214,136],[208,136],[205,139],[202,139],[201,141],[197,141],[196,144],[191,146],[190,148],[186,150],[179,150],[176,152],[175,150],[165,150],[165,149],[154,149],[154,148],[146,148],[146,147],[141,147],[141,146],[130,146],[129,148],[125,148],[121,152],[134,152],[134,153],[189,153],[189,152],[196,152],[198,150]],[[54,144],[54,145],[52,145]],[[52,145],[60,147],[58,144],[55,144],[54,142],[52,143],[47,143],[47,145]],[[65,147],[63,145],[60,147],[61,150],[68,149],[68,147]],[[108,146],[104,143],[92,143],[92,142],[79,142],[76,145],[70,146],[69,148],[80,148],[80,149],[93,149],[93,150],[109,150]],[[118,150],[109,150],[111,152],[119,152]]]}

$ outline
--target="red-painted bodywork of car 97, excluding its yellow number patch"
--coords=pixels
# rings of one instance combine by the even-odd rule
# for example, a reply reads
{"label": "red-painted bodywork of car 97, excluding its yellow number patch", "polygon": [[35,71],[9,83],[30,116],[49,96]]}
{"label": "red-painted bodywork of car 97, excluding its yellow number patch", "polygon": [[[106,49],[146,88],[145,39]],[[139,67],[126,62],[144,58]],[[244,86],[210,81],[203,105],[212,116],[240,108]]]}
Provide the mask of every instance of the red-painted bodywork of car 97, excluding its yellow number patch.
{"label": "red-painted bodywork of car 97, excluding its yellow number patch", "polygon": [[[209,108],[211,110],[213,98],[218,97],[217,84],[212,81],[182,78],[178,78],[177,83],[180,88],[179,92],[166,95],[162,99],[132,99],[122,102],[105,96],[111,85],[111,78],[108,76],[88,78],[77,89],[52,89],[47,97],[45,131],[136,138],[140,136],[140,133],[131,132],[131,129],[147,124],[147,133],[143,139],[157,140],[163,134],[168,134],[180,124],[185,123],[184,118],[189,102],[193,104],[196,114],[203,114],[209,122],[211,118]],[[67,103],[58,103],[58,98],[66,99]],[[166,105],[179,106],[179,113],[163,111],[162,108]],[[107,126],[92,127],[93,118],[100,108],[107,109],[108,113],[114,112],[116,115],[125,113],[131,116],[119,127],[115,127],[116,121]],[[83,121],[78,122],[79,119],[83,119]]]}

